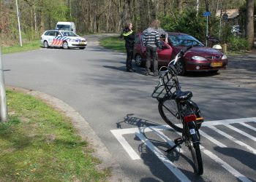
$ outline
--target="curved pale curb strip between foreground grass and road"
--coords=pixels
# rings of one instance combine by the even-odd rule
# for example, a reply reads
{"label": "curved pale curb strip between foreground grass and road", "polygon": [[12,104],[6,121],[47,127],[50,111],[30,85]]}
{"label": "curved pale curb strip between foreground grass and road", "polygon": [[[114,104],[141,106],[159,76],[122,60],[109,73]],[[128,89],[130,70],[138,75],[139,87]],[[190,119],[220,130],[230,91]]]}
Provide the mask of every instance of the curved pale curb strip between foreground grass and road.
{"label": "curved pale curb strip between foreground grass and road", "polygon": [[110,168],[112,170],[112,176],[110,177],[110,181],[129,181],[129,179],[125,176],[124,172],[121,170],[121,167],[117,164],[117,162],[113,159],[107,147],[102,143],[100,138],[97,136],[96,132],[92,130],[89,126],[89,123],[80,116],[80,114],[75,111],[74,108],[69,106],[64,101],[59,100],[58,98],[54,98],[51,95],[45,94],[43,92],[35,91],[35,90],[26,90],[21,87],[12,87],[7,86],[9,90],[15,90],[17,92],[23,92],[28,95],[32,95],[35,98],[39,98],[43,102],[47,103],[49,106],[52,106],[64,116],[70,119],[75,130],[78,131],[78,135],[83,139],[83,141],[89,142],[89,147],[94,149],[93,155],[101,160],[101,164],[97,165],[99,170]]}

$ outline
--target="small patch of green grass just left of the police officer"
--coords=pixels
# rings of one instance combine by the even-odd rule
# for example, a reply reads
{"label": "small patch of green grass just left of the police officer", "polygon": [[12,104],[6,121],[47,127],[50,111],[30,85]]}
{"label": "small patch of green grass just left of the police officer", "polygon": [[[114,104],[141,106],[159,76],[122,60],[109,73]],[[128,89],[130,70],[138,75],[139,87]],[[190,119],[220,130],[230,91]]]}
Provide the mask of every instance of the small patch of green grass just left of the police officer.
{"label": "small patch of green grass just left of the police officer", "polygon": [[119,36],[109,36],[99,40],[99,44],[102,47],[118,52],[126,52],[124,43],[124,39],[121,39]]}

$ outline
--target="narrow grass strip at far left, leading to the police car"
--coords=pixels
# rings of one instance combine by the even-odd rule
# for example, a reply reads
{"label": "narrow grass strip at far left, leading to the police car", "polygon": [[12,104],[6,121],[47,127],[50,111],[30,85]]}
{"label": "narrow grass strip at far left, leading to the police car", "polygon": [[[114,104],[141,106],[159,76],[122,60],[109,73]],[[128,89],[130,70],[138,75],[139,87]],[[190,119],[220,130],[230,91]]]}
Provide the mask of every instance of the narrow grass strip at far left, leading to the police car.
{"label": "narrow grass strip at far left, leading to the police car", "polygon": [[23,52],[28,50],[38,50],[41,48],[41,42],[40,40],[34,40],[27,43],[23,43],[22,47],[20,47],[20,44],[11,46],[11,47],[1,47],[1,52],[3,54],[12,53],[12,52]]}

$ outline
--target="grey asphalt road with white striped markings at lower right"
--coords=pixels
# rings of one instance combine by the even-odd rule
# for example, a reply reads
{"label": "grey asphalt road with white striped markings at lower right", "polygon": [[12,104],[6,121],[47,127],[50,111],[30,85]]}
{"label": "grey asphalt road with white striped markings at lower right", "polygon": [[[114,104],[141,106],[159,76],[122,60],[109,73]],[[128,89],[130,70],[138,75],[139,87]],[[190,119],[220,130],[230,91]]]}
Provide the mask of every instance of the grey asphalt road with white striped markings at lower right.
{"label": "grey asphalt road with white striped markings at lower right", "polygon": [[163,126],[157,100],[151,98],[157,77],[144,76],[138,67],[127,73],[126,55],[99,47],[99,35],[87,37],[86,50],[3,55],[6,84],[45,92],[75,108],[121,166],[120,178],[256,181],[255,55],[230,58],[219,74],[179,78],[206,120],[201,129],[204,174],[197,177],[186,147],[163,152],[178,133]]}

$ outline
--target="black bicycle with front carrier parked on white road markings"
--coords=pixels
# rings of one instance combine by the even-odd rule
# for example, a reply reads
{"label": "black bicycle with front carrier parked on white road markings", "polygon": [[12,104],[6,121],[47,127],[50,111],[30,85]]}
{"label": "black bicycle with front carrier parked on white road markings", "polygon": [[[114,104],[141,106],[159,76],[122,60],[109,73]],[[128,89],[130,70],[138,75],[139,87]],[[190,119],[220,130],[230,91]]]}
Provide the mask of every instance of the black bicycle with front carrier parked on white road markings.
{"label": "black bicycle with front carrier parked on white road markings", "polygon": [[176,143],[166,152],[170,152],[181,143],[191,151],[194,162],[195,173],[203,174],[203,161],[200,152],[200,133],[199,128],[203,122],[200,109],[197,104],[191,100],[191,91],[181,91],[181,86],[178,82],[177,61],[180,61],[184,54],[192,47],[181,50],[166,67],[161,67],[159,70],[159,84],[152,93],[153,98],[159,101],[158,109],[162,119],[165,120],[174,130],[182,132],[181,138],[176,138]]}

